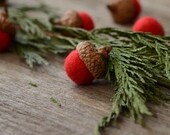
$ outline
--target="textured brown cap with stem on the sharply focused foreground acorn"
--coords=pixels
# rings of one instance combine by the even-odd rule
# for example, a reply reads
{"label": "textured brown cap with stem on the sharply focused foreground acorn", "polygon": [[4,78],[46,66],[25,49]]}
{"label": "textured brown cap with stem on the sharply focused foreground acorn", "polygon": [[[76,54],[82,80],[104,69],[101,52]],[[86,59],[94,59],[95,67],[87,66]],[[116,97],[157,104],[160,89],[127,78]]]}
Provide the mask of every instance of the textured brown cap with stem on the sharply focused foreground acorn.
{"label": "textured brown cap with stem on the sharply focused foreground acorn", "polygon": [[76,47],[80,59],[85,63],[86,67],[95,79],[103,78],[106,72],[105,58],[111,51],[111,46],[96,48],[88,41],[81,42]]}

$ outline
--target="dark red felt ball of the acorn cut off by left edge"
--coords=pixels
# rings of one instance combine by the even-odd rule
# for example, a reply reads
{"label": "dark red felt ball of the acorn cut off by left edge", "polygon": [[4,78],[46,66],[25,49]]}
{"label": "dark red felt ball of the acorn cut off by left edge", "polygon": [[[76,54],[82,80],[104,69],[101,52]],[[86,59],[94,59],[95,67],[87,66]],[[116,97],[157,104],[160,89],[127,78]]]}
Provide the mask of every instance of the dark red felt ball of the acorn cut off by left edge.
{"label": "dark red felt ball of the acorn cut off by left edge", "polygon": [[6,51],[12,43],[11,35],[0,30],[0,52]]}

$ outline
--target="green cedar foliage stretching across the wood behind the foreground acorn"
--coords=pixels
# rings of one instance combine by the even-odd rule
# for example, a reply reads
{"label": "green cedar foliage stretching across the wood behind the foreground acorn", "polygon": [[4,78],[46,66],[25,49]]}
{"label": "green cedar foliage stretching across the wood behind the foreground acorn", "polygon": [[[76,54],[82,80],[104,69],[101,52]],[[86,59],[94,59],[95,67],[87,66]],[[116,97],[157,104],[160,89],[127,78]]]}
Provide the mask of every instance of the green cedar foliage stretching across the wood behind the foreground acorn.
{"label": "green cedar foliage stretching across the wood behind the foreground acorn", "polygon": [[147,106],[149,101],[164,103],[167,100],[167,95],[157,88],[157,84],[170,84],[169,37],[114,28],[89,32],[79,28],[52,26],[50,20],[44,23],[18,11],[9,14],[11,21],[19,27],[13,47],[30,67],[47,64],[45,56],[48,53],[69,52],[80,41],[91,41],[96,47],[112,46],[106,74],[106,79],[115,89],[112,111],[98,123],[96,135],[124,111],[142,124],[144,115],[153,114]]}

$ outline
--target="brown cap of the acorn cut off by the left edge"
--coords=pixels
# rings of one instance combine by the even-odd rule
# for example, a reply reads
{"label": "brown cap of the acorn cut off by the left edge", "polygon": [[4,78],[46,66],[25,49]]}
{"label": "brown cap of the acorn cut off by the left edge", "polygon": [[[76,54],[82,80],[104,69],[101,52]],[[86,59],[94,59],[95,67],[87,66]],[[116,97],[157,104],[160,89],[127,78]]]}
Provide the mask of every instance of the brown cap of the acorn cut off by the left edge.
{"label": "brown cap of the acorn cut off by the left edge", "polygon": [[0,30],[3,30],[11,35],[15,34],[16,26],[15,24],[11,23],[7,15],[4,13],[0,14]]}

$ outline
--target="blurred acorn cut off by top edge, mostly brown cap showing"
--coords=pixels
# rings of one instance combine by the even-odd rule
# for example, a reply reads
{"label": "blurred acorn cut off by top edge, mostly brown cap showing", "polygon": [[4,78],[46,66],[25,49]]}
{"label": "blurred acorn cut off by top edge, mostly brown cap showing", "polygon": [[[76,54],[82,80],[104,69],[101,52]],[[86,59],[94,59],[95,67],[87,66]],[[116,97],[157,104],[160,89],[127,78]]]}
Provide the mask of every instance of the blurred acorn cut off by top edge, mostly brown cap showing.
{"label": "blurred acorn cut off by top edge, mostly brown cap showing", "polygon": [[138,0],[110,0],[107,8],[116,23],[127,24],[133,22],[141,12]]}

